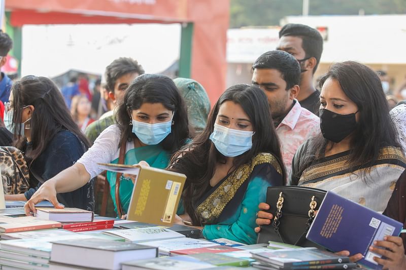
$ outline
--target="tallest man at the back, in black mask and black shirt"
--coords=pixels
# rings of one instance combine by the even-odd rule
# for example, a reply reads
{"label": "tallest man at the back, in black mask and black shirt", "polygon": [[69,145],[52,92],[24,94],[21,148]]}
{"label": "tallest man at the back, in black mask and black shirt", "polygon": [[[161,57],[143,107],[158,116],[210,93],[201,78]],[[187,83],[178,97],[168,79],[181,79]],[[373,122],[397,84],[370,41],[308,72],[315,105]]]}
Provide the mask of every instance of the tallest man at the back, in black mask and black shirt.
{"label": "tallest man at the back, in black mask and black shirt", "polygon": [[323,37],[316,29],[303,24],[289,23],[279,31],[277,50],[285,51],[300,64],[300,92],[297,100],[303,108],[319,115],[319,96],[313,85],[313,75],[323,52]]}

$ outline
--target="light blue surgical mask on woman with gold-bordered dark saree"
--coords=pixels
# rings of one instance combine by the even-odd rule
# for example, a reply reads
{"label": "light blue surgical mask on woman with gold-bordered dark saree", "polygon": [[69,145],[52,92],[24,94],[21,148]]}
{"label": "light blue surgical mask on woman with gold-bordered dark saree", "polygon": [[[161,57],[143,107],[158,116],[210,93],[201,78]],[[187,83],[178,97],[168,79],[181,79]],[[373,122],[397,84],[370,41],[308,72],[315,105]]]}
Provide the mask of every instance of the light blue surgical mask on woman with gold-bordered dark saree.
{"label": "light blue surgical mask on woman with gold-bordered dark saree", "polygon": [[236,157],[252,148],[252,135],[253,131],[229,129],[214,124],[210,139],[223,156]]}

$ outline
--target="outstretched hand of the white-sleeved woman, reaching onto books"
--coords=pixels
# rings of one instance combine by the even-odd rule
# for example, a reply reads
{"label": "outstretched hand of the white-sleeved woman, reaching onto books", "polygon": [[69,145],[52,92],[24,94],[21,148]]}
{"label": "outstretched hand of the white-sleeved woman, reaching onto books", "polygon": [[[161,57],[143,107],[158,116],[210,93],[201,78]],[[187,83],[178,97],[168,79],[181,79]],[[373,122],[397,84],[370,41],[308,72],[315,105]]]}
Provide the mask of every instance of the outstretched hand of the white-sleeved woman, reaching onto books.
{"label": "outstretched hand of the white-sleeved woman, reaching onto books", "polygon": [[55,208],[64,208],[56,199],[56,188],[54,181],[46,181],[40,188],[32,195],[25,205],[24,210],[27,216],[31,216],[30,212],[37,213],[35,205],[44,200],[49,201]]}

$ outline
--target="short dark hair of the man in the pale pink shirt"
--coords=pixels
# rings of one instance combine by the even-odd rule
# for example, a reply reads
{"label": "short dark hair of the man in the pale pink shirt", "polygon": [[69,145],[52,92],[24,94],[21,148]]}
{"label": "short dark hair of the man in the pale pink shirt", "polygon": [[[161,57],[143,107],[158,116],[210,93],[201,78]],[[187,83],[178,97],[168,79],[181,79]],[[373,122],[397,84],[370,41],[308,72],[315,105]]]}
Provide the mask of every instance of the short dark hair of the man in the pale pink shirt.
{"label": "short dark hair of the man in the pale pink shirt", "polygon": [[300,65],[297,60],[284,51],[269,51],[261,54],[252,64],[252,69],[272,68],[282,74],[286,90],[300,83]]}

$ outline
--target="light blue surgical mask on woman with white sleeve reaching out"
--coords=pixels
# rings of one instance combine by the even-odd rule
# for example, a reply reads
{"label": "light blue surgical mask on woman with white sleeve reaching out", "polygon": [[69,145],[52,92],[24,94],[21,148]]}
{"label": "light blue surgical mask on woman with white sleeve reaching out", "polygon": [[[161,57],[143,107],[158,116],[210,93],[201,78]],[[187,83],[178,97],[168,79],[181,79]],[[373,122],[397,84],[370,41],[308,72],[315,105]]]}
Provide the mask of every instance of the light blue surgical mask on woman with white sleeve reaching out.
{"label": "light blue surgical mask on woman with white sleeve reaching out", "polygon": [[[172,119],[174,115],[172,115]],[[164,123],[148,124],[132,120],[132,133],[146,145],[156,145],[171,133],[172,119]]]}

